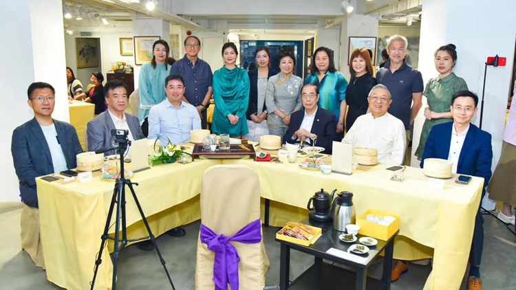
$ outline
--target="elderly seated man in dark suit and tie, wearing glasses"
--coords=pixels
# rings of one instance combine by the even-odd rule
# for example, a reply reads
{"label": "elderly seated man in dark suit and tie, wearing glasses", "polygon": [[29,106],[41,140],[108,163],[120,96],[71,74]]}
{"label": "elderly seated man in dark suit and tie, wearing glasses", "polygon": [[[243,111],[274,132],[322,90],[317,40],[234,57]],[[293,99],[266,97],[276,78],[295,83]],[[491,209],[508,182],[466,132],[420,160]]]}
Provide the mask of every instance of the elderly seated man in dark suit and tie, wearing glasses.
{"label": "elderly seated man in dark suit and tie, wearing glasses", "polygon": [[319,89],[314,84],[301,88],[301,102],[304,110],[290,115],[290,124],[283,136],[285,142],[294,144],[305,141],[325,148],[323,153],[332,154],[332,144],[336,138],[336,121],[334,113],[319,108]]}

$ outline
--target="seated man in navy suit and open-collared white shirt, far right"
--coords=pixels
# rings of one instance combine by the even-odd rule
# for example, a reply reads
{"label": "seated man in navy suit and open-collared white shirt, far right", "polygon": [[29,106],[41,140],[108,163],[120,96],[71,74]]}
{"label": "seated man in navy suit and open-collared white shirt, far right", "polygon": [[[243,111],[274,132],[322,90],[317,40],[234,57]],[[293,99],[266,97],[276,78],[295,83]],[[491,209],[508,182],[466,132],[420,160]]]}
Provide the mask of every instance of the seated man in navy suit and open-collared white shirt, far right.
{"label": "seated man in navy suit and open-collared white shirt, far right", "polygon": [[[471,118],[477,113],[477,104],[478,97],[471,91],[458,91],[453,95],[450,107],[453,122],[433,126],[424,147],[421,168],[424,165],[424,159],[447,159],[453,163],[453,173],[484,178],[483,198],[486,194],[485,188],[491,179],[493,149],[491,134],[471,124]],[[469,255],[469,290],[482,289],[480,260],[484,244],[484,219],[480,213],[480,203],[478,207]],[[404,265],[398,265],[398,267],[402,271],[405,269]]]}

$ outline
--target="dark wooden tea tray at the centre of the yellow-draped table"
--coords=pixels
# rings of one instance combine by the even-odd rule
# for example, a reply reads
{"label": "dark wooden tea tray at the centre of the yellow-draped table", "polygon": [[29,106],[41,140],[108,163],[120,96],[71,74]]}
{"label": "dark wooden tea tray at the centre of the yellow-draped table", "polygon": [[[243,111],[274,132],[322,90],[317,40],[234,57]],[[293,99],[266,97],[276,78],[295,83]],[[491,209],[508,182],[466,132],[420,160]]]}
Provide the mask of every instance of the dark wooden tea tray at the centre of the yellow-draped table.
{"label": "dark wooden tea tray at the centre of the yellow-draped table", "polygon": [[215,150],[211,149],[205,149],[201,144],[195,144],[192,157],[203,159],[255,159],[256,156],[255,147],[251,144],[230,144],[229,150],[221,150],[220,146],[216,145]]}

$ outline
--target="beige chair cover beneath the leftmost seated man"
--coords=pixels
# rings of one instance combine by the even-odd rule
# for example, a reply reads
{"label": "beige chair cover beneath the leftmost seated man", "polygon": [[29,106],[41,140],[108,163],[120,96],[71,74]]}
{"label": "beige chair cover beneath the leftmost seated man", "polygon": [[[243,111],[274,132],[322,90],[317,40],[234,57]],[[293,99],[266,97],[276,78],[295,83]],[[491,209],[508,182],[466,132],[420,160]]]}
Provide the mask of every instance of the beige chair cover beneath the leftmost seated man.
{"label": "beige chair cover beneath the leftmost seated man", "polygon": [[39,210],[22,203],[21,248],[32,258],[36,266],[45,269],[41,232],[39,232]]}

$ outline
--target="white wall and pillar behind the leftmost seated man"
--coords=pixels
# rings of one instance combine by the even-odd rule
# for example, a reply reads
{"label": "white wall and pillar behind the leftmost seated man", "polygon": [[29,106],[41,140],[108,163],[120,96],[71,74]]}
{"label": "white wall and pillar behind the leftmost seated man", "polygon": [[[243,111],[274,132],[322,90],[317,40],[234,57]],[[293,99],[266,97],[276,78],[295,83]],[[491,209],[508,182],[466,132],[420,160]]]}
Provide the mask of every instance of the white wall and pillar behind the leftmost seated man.
{"label": "white wall and pillar behind the leftmost seated man", "polygon": [[61,5],[61,0],[19,0],[3,8],[0,27],[8,29],[0,31],[0,38],[9,39],[10,45],[0,45],[0,55],[5,56],[0,69],[0,134],[5,140],[0,142],[0,201],[20,201],[11,137],[17,126],[34,117],[27,104],[28,86],[34,81],[52,84],[57,97],[54,118],[68,120],[66,75],[60,73],[65,70]]}

